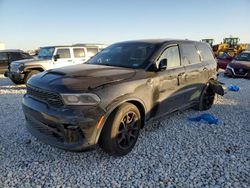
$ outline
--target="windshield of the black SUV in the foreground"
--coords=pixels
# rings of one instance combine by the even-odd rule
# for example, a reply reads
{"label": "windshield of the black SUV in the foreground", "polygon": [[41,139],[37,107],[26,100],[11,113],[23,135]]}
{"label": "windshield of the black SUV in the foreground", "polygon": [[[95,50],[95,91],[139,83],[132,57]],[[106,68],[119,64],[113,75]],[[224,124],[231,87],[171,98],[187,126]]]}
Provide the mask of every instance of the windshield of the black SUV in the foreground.
{"label": "windshield of the black SUV in the foreground", "polygon": [[99,52],[88,61],[89,64],[144,68],[155,45],[148,43],[114,44]]}

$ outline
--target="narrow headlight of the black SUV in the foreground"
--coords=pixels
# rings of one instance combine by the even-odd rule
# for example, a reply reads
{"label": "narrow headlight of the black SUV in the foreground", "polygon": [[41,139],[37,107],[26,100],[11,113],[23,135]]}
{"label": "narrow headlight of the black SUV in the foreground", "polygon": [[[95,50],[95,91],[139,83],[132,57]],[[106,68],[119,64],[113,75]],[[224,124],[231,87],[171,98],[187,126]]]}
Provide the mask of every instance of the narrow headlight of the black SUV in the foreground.
{"label": "narrow headlight of the black SUV in the foreground", "polygon": [[97,105],[100,98],[93,93],[61,94],[66,105]]}

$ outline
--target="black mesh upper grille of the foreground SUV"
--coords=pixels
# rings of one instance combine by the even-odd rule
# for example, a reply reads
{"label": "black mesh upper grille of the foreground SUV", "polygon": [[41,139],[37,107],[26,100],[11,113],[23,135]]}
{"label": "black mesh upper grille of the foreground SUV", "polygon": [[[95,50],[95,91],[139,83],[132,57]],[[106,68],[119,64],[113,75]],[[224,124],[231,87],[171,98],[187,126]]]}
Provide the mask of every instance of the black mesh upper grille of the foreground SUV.
{"label": "black mesh upper grille of the foreground SUV", "polygon": [[27,94],[37,100],[42,102],[46,102],[47,104],[54,106],[54,107],[62,107],[63,101],[59,94],[45,91],[39,88],[27,86]]}

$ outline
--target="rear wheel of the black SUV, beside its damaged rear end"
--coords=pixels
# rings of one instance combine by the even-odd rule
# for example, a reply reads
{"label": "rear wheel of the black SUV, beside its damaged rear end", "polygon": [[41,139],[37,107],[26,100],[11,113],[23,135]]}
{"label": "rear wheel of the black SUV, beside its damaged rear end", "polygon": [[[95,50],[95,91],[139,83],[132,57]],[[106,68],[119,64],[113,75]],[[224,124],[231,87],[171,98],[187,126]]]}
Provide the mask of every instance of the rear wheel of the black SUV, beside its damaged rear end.
{"label": "rear wheel of the black SUV, beside its damaged rear end", "polygon": [[204,88],[199,103],[194,107],[195,110],[204,111],[212,107],[214,103],[215,92],[209,86],[209,84]]}

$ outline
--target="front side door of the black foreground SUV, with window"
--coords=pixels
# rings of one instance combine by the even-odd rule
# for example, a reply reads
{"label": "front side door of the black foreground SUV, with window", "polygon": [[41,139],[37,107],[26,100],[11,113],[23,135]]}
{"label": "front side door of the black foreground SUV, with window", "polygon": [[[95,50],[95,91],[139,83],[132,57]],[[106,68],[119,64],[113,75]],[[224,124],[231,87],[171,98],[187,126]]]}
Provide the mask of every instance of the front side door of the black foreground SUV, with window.
{"label": "front side door of the black foreground SUV, with window", "polygon": [[164,115],[177,110],[186,104],[183,97],[185,95],[185,85],[183,85],[183,76],[185,68],[181,64],[180,51],[178,45],[167,46],[157,64],[162,59],[167,59],[167,69],[157,73],[158,90],[158,115]]}

